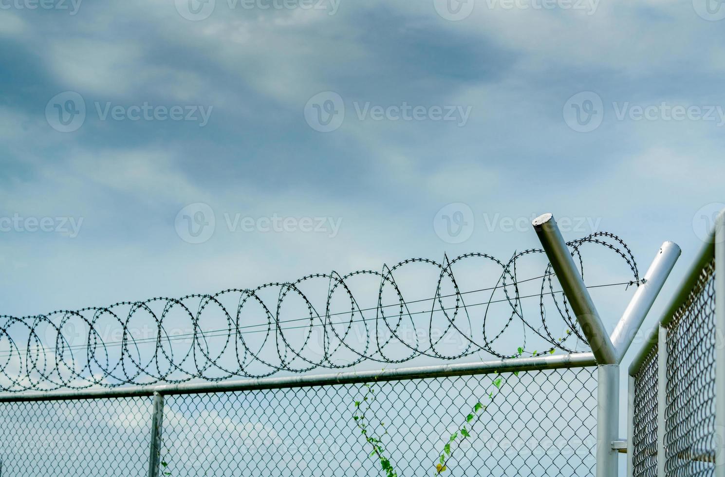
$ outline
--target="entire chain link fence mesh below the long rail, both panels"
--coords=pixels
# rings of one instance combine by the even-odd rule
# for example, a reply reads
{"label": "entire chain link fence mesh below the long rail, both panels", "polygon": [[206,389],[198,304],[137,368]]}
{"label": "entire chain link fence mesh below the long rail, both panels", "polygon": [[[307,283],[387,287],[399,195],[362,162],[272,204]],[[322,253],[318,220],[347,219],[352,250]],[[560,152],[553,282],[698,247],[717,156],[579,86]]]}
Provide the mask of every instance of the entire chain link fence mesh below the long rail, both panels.
{"label": "entire chain link fence mesh below the long rail, both panels", "polygon": [[[449,476],[595,475],[596,368],[370,386],[368,429],[399,477],[436,475],[444,444],[463,426],[471,437],[453,449]],[[384,476],[353,419],[368,389],[352,383],[166,395],[159,475]],[[2,476],[147,475],[152,402],[0,404]],[[467,424],[477,402],[486,408]]]}

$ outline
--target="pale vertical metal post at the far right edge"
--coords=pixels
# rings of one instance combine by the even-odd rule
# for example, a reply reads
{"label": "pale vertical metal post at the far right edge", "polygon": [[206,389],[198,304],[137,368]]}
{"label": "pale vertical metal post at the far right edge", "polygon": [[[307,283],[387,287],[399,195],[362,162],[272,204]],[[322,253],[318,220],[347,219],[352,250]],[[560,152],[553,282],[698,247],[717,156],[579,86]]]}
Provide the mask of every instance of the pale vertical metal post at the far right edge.
{"label": "pale vertical metal post at the far right edge", "polygon": [[715,225],[715,475],[725,477],[725,211]]}

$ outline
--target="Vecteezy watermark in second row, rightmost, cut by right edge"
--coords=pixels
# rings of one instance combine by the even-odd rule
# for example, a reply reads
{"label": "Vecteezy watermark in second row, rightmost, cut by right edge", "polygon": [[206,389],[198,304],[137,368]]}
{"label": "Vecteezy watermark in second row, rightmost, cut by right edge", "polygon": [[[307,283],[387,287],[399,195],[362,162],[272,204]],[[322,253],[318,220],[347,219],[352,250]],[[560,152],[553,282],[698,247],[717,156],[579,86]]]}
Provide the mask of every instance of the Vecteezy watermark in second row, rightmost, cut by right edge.
{"label": "Vecteezy watermark in second row, rightmost, cut by right edge", "polygon": [[[637,104],[631,101],[613,101],[613,117],[617,121],[709,121],[716,126],[725,125],[725,108],[717,104]],[[593,91],[582,91],[564,104],[564,121],[579,133],[599,128],[605,116],[604,101]]]}

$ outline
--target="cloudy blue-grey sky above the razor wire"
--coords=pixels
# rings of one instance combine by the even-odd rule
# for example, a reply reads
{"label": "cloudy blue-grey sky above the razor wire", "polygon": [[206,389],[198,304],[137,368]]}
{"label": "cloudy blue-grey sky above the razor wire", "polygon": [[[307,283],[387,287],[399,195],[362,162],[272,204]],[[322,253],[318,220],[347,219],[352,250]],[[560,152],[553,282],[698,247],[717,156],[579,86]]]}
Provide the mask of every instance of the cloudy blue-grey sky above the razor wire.
{"label": "cloudy blue-grey sky above the razor wire", "polygon": [[725,207],[706,7],[1,0],[0,312],[509,257],[543,212],[677,278]]}

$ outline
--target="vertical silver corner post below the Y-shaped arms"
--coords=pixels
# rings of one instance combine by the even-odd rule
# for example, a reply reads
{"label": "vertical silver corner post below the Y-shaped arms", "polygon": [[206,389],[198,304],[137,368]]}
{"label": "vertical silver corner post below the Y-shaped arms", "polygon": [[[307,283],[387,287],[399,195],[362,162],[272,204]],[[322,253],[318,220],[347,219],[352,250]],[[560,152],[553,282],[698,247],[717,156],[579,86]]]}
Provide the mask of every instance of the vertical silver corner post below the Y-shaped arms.
{"label": "vertical silver corner post below the Y-shaped arms", "polygon": [[617,477],[619,452],[619,365],[597,366],[597,477]]}

